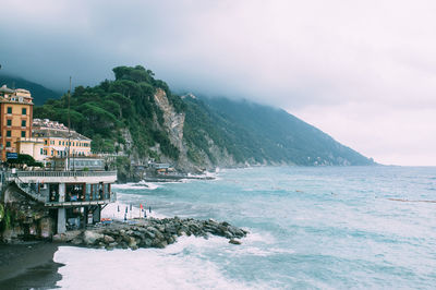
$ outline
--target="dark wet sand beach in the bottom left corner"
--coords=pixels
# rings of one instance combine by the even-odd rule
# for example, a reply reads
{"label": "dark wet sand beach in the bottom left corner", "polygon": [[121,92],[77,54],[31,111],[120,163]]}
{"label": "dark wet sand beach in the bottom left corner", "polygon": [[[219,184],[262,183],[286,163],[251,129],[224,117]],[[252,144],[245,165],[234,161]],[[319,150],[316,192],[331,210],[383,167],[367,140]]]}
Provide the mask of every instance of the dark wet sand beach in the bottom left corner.
{"label": "dark wet sand beach in the bottom left corner", "polygon": [[0,244],[0,289],[52,289],[62,276],[53,262],[58,244]]}

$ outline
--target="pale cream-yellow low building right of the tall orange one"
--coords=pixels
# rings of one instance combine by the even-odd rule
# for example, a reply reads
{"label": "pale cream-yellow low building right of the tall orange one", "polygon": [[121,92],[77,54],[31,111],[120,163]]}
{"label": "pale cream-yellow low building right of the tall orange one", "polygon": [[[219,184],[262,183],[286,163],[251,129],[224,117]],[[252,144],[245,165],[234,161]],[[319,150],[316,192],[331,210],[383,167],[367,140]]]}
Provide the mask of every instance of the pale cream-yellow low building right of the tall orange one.
{"label": "pale cream-yellow low building right of the tall orange one", "polygon": [[45,158],[66,157],[69,148],[70,156],[90,155],[90,138],[78,134],[74,130],[69,132],[64,124],[56,121],[35,119],[33,122],[33,137],[44,142],[43,156]]}

